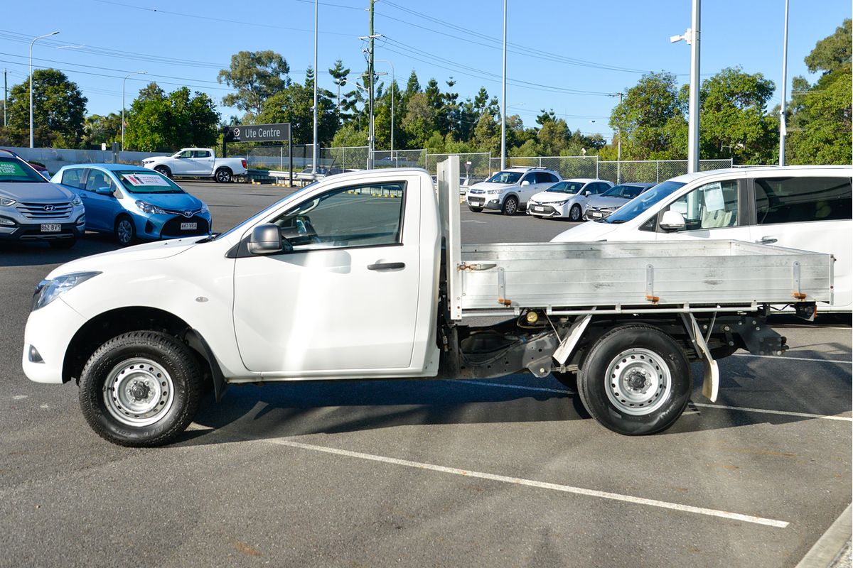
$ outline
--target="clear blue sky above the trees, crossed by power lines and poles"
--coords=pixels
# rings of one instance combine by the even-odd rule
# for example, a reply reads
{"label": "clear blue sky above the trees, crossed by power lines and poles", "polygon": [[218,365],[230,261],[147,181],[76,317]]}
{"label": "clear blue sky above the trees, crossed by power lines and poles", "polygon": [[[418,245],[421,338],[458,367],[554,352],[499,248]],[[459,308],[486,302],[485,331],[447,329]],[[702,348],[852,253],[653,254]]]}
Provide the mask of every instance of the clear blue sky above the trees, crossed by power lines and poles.
{"label": "clear blue sky above the trees, crossed by power lines and poles", "polygon": [[[792,77],[808,76],[804,56],[851,9],[849,0],[790,4],[789,98]],[[335,60],[343,60],[353,77],[363,72],[365,46],[358,37],[368,35],[367,5],[368,0],[321,1],[321,86],[335,90],[326,72]],[[761,72],[777,85],[770,106],[779,103],[784,5],[705,0],[703,76],[727,66]],[[167,91],[183,84],[205,91],[227,118],[236,112],[222,105],[229,90],[216,76],[232,54],[273,49],[299,82],[314,58],[313,0],[40,0],[35,6],[4,3],[0,67],[9,69],[9,87],[26,78],[30,39],[58,30],[36,43],[33,65],[67,72],[88,97],[89,113],[119,112],[122,78],[147,71],[127,80],[126,105],[156,80]],[[415,70],[421,86],[435,77],[444,88],[453,77],[461,99],[473,97],[480,86],[500,95],[502,6],[502,0],[379,0],[375,33],[385,37],[376,41],[376,57],[392,60],[403,87]],[[519,114],[531,126],[540,109],[553,108],[572,129],[609,138],[607,118],[616,99],[607,93],[629,88],[647,71],[674,72],[687,82],[690,49],[669,37],[688,28],[690,8],[690,0],[508,0],[508,114]],[[376,69],[390,72],[386,63]]]}

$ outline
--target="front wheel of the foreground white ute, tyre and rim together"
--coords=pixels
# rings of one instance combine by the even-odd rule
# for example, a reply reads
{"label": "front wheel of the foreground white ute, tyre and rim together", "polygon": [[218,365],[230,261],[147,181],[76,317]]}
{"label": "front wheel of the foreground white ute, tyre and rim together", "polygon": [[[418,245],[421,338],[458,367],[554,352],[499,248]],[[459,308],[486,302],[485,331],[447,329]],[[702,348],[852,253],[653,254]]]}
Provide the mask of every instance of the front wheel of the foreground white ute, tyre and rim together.
{"label": "front wheel of the foreground white ute, tyre and rim together", "polygon": [[201,370],[181,341],[158,331],[131,331],[104,343],[80,376],[80,408],[89,426],[113,444],[171,442],[192,422]]}

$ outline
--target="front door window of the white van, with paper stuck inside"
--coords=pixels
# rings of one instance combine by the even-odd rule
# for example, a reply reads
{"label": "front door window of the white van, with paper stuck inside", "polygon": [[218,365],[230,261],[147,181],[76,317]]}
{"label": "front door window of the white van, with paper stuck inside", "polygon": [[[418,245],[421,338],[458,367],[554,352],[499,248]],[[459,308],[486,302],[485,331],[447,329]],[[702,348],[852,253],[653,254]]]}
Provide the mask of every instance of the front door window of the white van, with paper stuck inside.
{"label": "front door window of the white van, with paper stuck inside", "polygon": [[738,182],[706,183],[676,199],[670,211],[682,214],[686,231],[735,227],[739,224]]}

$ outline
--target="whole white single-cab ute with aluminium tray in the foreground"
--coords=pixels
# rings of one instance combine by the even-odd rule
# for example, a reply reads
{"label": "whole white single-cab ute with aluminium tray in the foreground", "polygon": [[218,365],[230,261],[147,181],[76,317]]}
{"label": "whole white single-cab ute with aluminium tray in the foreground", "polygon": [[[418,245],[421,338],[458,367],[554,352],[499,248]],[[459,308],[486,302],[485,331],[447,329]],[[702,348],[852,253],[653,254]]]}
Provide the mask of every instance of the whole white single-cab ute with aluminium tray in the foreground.
{"label": "whole white single-cab ute with aluminium tray in the foreground", "polygon": [[[767,304],[812,317],[831,255],[737,241],[461,244],[458,158],[333,175],[229,232],[69,262],[38,285],[23,367],[77,382],[120,445],[175,439],[202,389],[236,383],[472,378],[577,384],[624,434],[656,433],[693,391],[689,362],[781,354]],[[475,327],[471,318],[500,318]],[[478,321],[482,322],[483,319]]]}

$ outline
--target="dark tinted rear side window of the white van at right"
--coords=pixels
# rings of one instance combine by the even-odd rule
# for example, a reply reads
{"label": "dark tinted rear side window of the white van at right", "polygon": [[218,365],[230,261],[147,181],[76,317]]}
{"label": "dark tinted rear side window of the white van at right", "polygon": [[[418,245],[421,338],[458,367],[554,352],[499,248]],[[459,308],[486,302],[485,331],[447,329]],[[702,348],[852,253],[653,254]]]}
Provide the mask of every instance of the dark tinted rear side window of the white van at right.
{"label": "dark tinted rear side window of the white van at right", "polygon": [[759,225],[850,219],[850,178],[759,178],[755,211]]}

